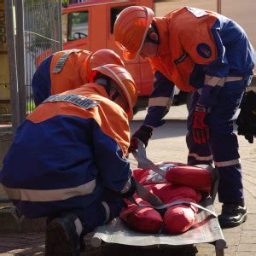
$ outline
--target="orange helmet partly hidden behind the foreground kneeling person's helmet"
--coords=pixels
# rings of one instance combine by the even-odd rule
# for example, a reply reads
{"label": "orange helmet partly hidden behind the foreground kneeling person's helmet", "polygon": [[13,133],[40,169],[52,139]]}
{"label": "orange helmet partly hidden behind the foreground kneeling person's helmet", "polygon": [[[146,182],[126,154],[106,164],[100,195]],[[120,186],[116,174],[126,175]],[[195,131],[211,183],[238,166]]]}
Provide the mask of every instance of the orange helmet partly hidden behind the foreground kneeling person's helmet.
{"label": "orange helmet partly hidden behind the foreground kneeling person's helmet", "polygon": [[125,67],[125,64],[121,60],[120,56],[117,55],[112,49],[99,49],[89,56],[88,73],[90,73],[92,69],[105,64],[116,64]]}

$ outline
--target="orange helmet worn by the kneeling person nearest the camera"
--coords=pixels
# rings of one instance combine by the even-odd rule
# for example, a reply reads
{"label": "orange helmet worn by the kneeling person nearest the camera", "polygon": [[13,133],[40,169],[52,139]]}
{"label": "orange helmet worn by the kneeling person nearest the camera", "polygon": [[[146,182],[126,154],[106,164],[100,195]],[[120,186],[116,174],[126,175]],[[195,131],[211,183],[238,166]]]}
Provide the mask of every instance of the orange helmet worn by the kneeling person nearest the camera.
{"label": "orange helmet worn by the kneeling person nearest the camera", "polygon": [[137,102],[137,87],[131,74],[124,67],[115,64],[107,64],[92,70],[89,76],[90,82],[94,82],[97,73],[102,73],[115,81],[128,104],[128,109],[125,109],[125,113],[127,113],[128,119],[131,120],[133,117],[132,108]]}

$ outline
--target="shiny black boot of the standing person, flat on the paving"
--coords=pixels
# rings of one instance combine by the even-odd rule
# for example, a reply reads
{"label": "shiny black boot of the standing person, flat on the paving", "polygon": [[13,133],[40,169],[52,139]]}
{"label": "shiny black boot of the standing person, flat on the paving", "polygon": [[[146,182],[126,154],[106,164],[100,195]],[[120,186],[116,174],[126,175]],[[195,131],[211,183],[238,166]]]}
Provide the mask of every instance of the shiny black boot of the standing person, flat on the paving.
{"label": "shiny black boot of the standing person, flat on the paving", "polygon": [[218,215],[218,222],[222,228],[239,226],[247,219],[247,207],[236,204],[223,204],[221,214]]}

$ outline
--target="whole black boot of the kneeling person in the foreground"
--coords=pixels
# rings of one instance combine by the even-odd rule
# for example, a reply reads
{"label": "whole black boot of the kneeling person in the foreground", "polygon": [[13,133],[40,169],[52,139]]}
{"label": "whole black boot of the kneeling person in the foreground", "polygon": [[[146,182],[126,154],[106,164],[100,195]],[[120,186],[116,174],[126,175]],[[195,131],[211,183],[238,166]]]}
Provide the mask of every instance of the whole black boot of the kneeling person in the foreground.
{"label": "whole black boot of the kneeling person in the foreground", "polygon": [[72,212],[62,213],[49,222],[46,228],[45,255],[77,256],[80,237],[74,223],[78,216]]}

